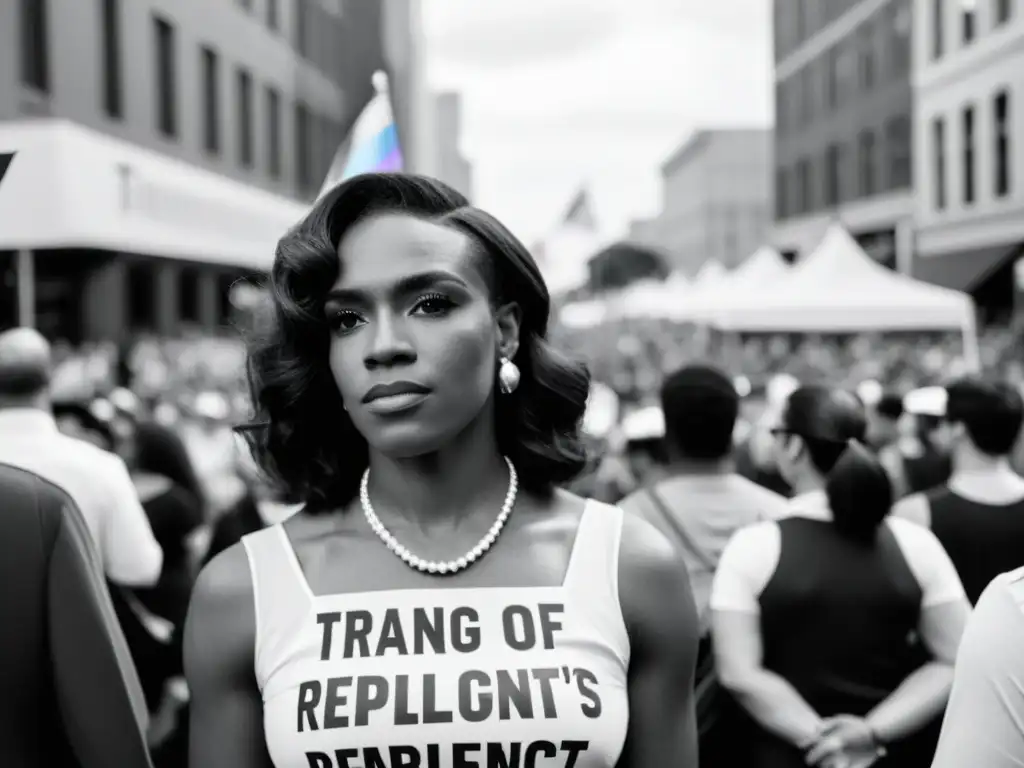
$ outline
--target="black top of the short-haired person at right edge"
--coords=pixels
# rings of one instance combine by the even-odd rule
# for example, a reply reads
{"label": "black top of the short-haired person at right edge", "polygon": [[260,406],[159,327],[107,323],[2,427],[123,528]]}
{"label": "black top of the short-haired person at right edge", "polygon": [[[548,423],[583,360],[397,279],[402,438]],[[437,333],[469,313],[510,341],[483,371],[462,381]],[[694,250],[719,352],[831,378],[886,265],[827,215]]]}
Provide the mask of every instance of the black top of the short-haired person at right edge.
{"label": "black top of the short-haired person at right edge", "polygon": [[995,577],[1024,565],[1024,499],[982,504],[945,485],[927,498],[932,531],[956,566],[972,605]]}

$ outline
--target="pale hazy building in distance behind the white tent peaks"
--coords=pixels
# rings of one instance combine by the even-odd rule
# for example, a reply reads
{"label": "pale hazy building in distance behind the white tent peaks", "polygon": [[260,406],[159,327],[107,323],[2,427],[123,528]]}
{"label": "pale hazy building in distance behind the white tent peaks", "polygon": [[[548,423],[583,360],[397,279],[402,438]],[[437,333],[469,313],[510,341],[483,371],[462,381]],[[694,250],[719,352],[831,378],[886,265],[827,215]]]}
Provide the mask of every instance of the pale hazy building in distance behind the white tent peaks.
{"label": "pale hazy building in distance behind the white tent peaks", "polygon": [[767,236],[771,168],[768,128],[696,131],[662,165],[662,211],[631,233],[673,270],[693,274],[711,260],[734,267]]}

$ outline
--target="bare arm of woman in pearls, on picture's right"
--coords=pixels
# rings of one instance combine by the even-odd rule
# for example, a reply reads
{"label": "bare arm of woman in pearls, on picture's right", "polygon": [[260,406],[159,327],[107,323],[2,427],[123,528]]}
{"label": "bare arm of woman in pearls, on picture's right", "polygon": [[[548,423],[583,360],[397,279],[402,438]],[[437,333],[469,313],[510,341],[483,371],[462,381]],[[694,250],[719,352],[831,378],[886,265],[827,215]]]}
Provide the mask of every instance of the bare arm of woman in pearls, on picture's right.
{"label": "bare arm of woman in pearls, on picture's right", "polygon": [[623,520],[618,592],[630,636],[630,725],[618,768],[696,768],[699,630],[686,564],[633,515]]}

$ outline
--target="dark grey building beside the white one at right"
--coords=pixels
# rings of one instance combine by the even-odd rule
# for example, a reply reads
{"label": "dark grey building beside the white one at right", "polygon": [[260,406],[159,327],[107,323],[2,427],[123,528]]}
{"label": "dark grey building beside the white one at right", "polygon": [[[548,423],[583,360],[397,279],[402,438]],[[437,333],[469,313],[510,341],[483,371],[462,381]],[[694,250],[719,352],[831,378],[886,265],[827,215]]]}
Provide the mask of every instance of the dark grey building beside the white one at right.
{"label": "dark grey building beside the white one at right", "polygon": [[775,0],[770,245],[787,258],[839,220],[880,262],[908,269],[912,10],[911,0]]}

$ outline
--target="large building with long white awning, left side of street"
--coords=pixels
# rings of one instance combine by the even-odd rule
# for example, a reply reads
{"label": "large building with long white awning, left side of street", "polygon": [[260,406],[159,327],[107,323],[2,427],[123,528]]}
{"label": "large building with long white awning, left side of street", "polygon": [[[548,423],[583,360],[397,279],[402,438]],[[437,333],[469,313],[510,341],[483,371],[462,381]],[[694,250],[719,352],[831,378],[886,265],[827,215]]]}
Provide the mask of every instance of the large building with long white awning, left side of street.
{"label": "large building with long white awning, left side of street", "polygon": [[308,209],[385,48],[415,47],[398,28],[415,5],[0,3],[0,327],[78,341],[221,324],[231,285],[268,270]]}

